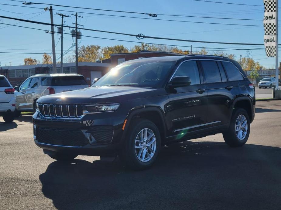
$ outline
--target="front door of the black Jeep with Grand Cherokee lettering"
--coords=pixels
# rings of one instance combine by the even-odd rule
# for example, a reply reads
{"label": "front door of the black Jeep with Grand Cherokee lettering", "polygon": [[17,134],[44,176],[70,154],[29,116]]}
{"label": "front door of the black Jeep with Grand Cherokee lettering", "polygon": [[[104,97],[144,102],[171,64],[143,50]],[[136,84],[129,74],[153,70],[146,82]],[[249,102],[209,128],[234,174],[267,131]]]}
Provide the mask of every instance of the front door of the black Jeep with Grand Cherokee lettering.
{"label": "front door of the black Jeep with Grand Cherokee lettering", "polygon": [[167,88],[169,103],[166,106],[169,136],[176,139],[202,133],[206,129],[207,91],[198,69],[198,61],[183,61],[173,77],[190,77],[186,87]]}

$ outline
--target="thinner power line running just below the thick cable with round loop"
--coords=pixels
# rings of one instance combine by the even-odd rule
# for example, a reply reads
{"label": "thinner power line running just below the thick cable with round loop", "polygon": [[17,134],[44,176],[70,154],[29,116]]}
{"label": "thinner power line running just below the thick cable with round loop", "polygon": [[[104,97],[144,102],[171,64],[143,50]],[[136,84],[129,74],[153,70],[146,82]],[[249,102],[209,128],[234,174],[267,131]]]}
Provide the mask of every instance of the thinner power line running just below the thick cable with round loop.
{"label": "thinner power line running just below the thick cable with round loop", "polygon": [[[7,24],[7,23],[0,23],[3,25],[11,25],[11,24]],[[46,31],[44,29],[39,29],[39,28],[31,28],[31,27],[26,27],[26,26],[19,26],[19,25],[13,25],[16,27],[21,27],[21,28],[29,28],[29,29],[34,29],[34,30],[39,30],[39,31]],[[70,33],[65,33],[65,34],[70,34]],[[71,34],[70,34],[71,35]],[[121,39],[112,39],[112,38],[104,38],[104,37],[95,37],[95,36],[87,36],[87,35],[82,35],[83,37],[90,37],[90,38],[98,38],[98,39],[106,39],[106,40],[113,40],[113,41],[125,41],[125,42],[132,42],[132,43],[144,43],[144,44],[155,44],[155,45],[166,45],[166,46],[176,46],[176,47],[186,47],[189,48],[190,46],[186,46],[186,45],[175,45],[175,44],[159,44],[159,43],[151,43],[151,42],[141,42],[141,41],[128,41],[128,40],[121,40]],[[281,44],[280,44],[281,45]],[[228,50],[230,48],[208,48],[208,47],[194,47],[194,48],[206,48],[206,49],[221,49],[221,50]],[[262,50],[262,48],[260,49],[233,49],[233,50]]]}

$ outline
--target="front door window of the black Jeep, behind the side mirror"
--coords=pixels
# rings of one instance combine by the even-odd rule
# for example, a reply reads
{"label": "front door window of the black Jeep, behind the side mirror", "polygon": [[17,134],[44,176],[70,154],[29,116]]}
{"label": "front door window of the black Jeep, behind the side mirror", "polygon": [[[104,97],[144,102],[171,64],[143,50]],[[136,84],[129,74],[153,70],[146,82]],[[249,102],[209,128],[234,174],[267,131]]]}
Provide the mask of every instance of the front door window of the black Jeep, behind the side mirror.
{"label": "front door window of the black Jeep, behind the side mirror", "polygon": [[197,67],[196,61],[185,61],[183,62],[178,69],[176,70],[176,73],[173,77],[176,76],[187,76],[190,77],[191,84],[200,84],[200,76],[199,71]]}

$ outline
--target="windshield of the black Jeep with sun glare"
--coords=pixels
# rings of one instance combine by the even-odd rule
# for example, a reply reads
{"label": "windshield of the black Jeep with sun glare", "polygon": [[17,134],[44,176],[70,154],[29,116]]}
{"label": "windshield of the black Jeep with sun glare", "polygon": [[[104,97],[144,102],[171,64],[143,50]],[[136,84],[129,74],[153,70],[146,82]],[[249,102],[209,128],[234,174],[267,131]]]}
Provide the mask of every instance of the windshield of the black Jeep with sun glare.
{"label": "windshield of the black Jeep with sun glare", "polygon": [[162,87],[175,61],[126,62],[112,68],[93,86]]}

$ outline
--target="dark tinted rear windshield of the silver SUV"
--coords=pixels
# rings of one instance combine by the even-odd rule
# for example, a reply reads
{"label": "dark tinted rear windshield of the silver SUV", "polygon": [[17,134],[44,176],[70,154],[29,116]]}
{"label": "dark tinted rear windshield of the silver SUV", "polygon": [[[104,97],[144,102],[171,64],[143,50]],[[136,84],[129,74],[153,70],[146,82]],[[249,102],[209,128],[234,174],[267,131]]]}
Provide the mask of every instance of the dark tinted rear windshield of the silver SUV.
{"label": "dark tinted rear windshield of the silver SUV", "polygon": [[73,86],[73,85],[87,85],[83,76],[60,76],[53,77],[51,81],[52,86]]}

